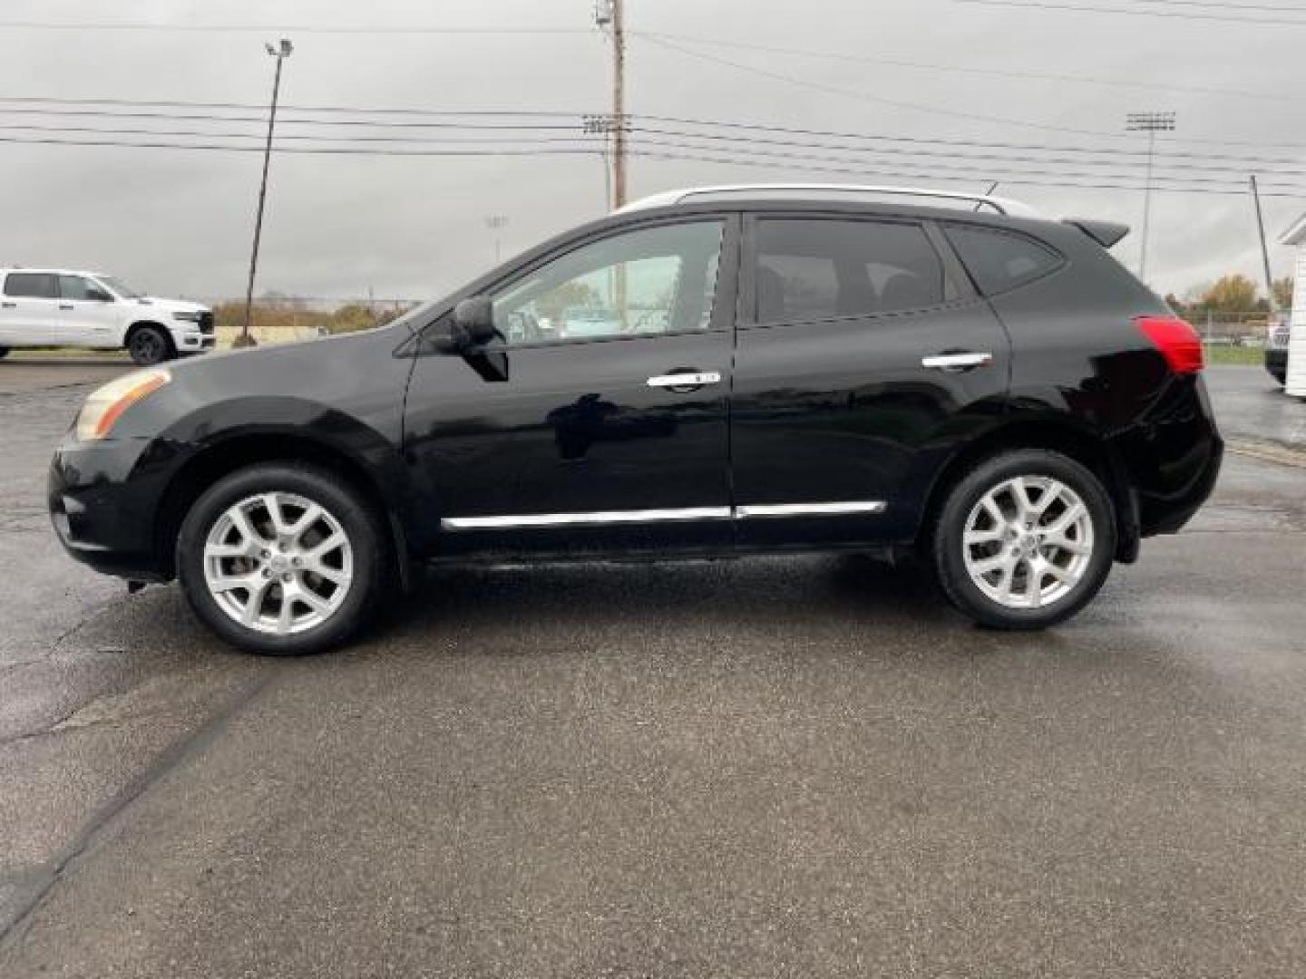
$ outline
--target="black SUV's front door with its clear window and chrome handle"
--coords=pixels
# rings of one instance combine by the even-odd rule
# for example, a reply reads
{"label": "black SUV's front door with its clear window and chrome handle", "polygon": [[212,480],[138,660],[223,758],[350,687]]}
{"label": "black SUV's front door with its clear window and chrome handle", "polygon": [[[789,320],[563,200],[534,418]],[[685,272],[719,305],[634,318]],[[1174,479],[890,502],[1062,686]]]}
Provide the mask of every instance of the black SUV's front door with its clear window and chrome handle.
{"label": "black SUV's front door with its clear window and chrome handle", "polygon": [[419,548],[729,546],[737,252],[729,215],[643,222],[495,286],[500,338],[409,385]]}

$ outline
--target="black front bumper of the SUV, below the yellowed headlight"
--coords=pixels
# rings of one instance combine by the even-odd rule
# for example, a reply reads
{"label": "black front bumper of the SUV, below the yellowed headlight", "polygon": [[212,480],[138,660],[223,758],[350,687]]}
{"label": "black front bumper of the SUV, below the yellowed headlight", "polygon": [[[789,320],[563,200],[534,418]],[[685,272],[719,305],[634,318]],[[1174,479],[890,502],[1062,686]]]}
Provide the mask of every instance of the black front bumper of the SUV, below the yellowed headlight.
{"label": "black front bumper of the SUV, below the yellowed headlight", "polygon": [[150,478],[132,478],[149,441],[68,436],[50,463],[47,504],[59,542],[74,559],[104,574],[163,581],[168,572],[154,540],[159,492]]}

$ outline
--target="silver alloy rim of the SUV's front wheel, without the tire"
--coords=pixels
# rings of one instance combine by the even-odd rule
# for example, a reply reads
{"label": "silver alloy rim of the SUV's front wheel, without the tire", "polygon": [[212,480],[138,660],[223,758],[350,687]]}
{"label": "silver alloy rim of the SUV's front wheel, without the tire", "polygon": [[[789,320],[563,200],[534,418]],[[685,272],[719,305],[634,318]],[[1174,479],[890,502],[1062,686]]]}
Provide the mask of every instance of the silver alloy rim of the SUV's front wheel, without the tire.
{"label": "silver alloy rim of the SUV's front wheel, without the tire", "polygon": [[321,625],[354,580],[341,522],[303,496],[266,492],[232,504],[204,544],[204,581],[240,625],[287,636]]}

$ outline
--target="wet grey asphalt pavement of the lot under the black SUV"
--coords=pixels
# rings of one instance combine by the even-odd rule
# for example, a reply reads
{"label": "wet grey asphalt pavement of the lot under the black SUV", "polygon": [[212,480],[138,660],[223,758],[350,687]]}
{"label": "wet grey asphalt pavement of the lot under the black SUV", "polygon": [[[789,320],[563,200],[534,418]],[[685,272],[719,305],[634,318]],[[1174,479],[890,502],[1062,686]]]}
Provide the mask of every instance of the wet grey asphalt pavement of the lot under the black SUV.
{"label": "wet grey asphalt pavement of the lot under the black SUV", "polygon": [[[1306,403],[1074,623],[854,559],[441,570],[227,651],[48,529],[0,364],[0,975],[1301,976]],[[73,386],[65,386],[73,385]]]}

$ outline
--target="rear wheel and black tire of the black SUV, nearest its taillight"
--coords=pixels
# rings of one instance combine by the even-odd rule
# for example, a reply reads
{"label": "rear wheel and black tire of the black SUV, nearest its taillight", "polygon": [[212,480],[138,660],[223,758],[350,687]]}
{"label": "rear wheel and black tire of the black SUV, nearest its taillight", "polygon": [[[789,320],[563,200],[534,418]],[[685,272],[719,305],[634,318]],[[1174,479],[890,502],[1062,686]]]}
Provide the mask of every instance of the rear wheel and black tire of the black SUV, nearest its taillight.
{"label": "rear wheel and black tire of the black SUV, nearest its taillight", "polygon": [[[1024,500],[1032,504],[1019,525],[1017,479],[1027,480]],[[1060,533],[1058,521],[1066,525]],[[1115,555],[1115,509],[1097,476],[1074,459],[1006,452],[951,488],[930,550],[943,593],[964,615],[996,629],[1042,629],[1070,619],[1102,587]]]}

